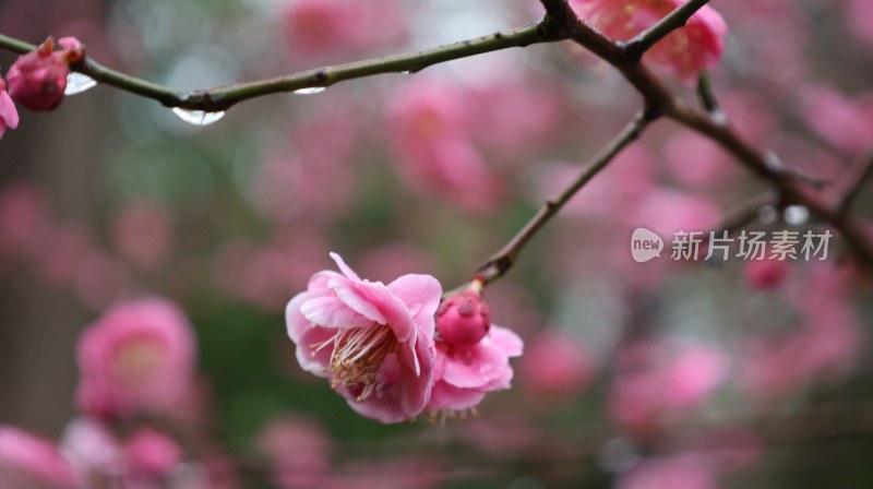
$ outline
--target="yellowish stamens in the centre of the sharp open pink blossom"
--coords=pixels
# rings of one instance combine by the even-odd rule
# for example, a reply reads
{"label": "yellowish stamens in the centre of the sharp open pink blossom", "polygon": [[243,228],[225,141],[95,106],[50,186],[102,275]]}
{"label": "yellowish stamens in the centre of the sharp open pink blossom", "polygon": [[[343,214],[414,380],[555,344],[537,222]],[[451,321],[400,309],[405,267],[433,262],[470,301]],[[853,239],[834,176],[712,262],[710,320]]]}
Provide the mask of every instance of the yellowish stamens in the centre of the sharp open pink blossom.
{"label": "yellowish stamens in the centre of the sharp open pink blossom", "polygon": [[399,343],[387,325],[339,330],[324,343],[311,345],[312,355],[333,344],[331,386],[363,385],[357,401],[363,401],[376,391],[379,369],[388,354],[396,353]]}

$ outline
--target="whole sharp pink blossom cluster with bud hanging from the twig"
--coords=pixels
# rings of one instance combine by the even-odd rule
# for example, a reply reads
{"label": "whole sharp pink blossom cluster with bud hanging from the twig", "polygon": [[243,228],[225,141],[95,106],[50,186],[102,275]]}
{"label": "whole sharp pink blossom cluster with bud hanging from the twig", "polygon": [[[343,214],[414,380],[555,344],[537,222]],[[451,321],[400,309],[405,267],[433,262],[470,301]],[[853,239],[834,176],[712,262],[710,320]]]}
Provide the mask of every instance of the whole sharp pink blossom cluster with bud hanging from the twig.
{"label": "whole sharp pink blossom cluster with bud hanging from the twig", "polygon": [[491,324],[477,282],[441,305],[432,276],[385,285],[331,257],[342,274],[316,273],[288,302],[286,322],[300,366],[326,378],[352,409],[382,422],[426,410],[463,414],[510,386],[509,359],[523,343]]}

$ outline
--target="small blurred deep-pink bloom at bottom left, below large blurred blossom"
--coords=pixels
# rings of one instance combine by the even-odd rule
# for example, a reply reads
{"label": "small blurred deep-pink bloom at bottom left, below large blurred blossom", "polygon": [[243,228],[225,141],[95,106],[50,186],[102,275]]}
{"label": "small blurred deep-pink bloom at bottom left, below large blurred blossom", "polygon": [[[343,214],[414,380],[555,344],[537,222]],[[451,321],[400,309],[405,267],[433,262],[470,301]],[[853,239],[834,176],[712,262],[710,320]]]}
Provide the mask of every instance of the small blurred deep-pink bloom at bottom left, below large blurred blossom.
{"label": "small blurred deep-pink bloom at bottom left, below large blurred blossom", "polygon": [[124,443],[128,464],[134,477],[163,479],[182,460],[176,440],[151,428],[140,428]]}

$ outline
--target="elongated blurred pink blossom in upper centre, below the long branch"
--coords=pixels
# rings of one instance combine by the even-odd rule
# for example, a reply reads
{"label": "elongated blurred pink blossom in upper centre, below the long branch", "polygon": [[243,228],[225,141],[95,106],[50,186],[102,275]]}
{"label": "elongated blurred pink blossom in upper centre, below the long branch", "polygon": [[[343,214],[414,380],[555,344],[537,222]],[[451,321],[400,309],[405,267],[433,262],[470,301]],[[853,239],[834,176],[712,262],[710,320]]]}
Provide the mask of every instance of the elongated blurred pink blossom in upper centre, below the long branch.
{"label": "elongated blurred pink blossom in upper centre, below the long branch", "polygon": [[416,190],[489,211],[499,199],[497,176],[469,139],[467,93],[422,79],[400,88],[388,109],[400,177]]}

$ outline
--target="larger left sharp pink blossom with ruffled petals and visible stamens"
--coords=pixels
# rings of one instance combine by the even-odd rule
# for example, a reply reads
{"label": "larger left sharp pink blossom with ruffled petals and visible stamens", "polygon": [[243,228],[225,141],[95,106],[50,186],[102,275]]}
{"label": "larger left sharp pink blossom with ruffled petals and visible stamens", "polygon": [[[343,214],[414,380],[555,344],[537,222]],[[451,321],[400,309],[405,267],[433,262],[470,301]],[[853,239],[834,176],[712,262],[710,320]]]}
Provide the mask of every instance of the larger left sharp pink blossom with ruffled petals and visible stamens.
{"label": "larger left sharp pink blossom with ruffled petals and visible stamens", "polygon": [[416,417],[431,393],[440,283],[416,274],[387,285],[369,282],[338,254],[331,258],[343,273],[316,273],[285,311],[297,360],[327,378],[362,416],[382,422]]}

